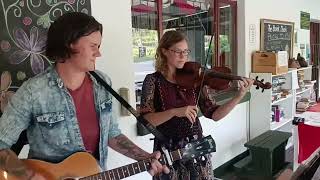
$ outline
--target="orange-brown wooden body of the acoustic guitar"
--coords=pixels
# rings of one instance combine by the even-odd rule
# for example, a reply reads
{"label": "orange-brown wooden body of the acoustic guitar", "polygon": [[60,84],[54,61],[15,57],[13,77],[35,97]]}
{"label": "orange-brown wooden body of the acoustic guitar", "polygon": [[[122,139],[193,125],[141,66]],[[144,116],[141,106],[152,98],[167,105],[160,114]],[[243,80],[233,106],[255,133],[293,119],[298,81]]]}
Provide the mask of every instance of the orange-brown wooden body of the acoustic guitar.
{"label": "orange-brown wooden body of the acoustic guitar", "polygon": [[[23,162],[46,180],[85,177],[100,172],[96,159],[86,152],[75,153],[57,164],[32,159]],[[19,178],[0,171],[0,180],[19,180]]]}

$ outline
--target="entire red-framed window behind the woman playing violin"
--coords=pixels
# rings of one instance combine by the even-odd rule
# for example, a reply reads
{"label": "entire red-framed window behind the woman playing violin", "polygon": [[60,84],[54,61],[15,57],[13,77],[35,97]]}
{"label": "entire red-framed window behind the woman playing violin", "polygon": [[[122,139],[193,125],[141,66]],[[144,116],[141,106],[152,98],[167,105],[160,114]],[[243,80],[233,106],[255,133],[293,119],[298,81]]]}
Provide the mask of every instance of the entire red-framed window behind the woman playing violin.
{"label": "entire red-framed window behind the woman playing violin", "polygon": [[[158,39],[169,29],[180,30],[187,35],[191,50],[190,60],[208,68],[229,67],[232,73],[236,74],[236,1],[131,2],[137,103],[145,75],[154,72]],[[205,64],[206,59],[208,60]]]}

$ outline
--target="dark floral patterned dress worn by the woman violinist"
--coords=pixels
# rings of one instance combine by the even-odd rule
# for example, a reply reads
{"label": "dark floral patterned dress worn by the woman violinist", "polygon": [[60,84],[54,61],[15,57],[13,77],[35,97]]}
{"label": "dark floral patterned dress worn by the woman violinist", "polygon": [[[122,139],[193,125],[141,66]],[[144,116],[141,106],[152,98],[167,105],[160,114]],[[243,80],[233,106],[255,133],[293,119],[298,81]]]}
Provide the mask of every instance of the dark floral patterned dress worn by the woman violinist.
{"label": "dark floral patterned dress worn by the woman violinist", "polygon": [[[207,96],[206,88],[202,89],[199,99],[199,107],[202,114],[211,118],[212,113],[218,108],[214,99]],[[141,97],[141,113],[162,112],[172,108],[196,105],[199,89],[185,89],[165,79],[160,72],[148,74],[143,82]],[[170,142],[164,144],[169,151],[184,148],[192,140],[203,137],[199,118],[192,125],[186,117],[173,117],[165,123],[157,126]],[[161,150],[157,139],[154,142],[154,150]],[[161,174],[154,179],[165,180],[210,180],[213,179],[213,170],[210,155],[199,157],[195,160],[176,161],[171,167],[169,175]],[[201,159],[200,159],[201,158]]]}

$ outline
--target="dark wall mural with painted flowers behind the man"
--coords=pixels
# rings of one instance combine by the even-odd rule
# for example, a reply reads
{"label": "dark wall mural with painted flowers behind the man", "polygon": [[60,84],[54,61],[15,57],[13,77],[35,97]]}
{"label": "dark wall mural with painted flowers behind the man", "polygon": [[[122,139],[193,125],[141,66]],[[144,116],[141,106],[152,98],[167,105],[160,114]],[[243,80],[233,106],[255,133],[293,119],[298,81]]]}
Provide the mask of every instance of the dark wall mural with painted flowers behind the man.
{"label": "dark wall mural with painted flowers behind the man", "polygon": [[0,0],[1,112],[23,81],[52,64],[45,55],[50,24],[66,12],[91,14],[90,0]]}

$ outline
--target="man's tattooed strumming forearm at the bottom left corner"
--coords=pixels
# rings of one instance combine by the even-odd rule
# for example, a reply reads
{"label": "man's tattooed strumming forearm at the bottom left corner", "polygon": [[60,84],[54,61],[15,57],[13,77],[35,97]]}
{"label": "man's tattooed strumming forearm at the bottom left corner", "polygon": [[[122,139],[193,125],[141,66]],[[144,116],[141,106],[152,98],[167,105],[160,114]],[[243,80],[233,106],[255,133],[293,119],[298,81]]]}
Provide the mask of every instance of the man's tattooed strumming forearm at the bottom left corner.
{"label": "man's tattooed strumming forearm at the bottom left corner", "polygon": [[8,149],[0,150],[0,169],[18,177],[26,177],[28,175],[22,161],[18,159],[14,152]]}

